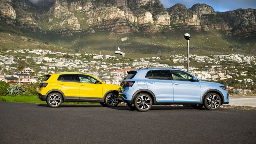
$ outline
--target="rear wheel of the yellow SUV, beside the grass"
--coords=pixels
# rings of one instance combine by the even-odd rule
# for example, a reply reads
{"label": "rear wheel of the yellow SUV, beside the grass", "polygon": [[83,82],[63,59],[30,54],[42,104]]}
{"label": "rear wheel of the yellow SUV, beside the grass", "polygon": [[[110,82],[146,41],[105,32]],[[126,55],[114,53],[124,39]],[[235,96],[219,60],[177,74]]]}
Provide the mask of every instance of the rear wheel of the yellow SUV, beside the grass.
{"label": "rear wheel of the yellow SUV, beside the grass", "polygon": [[62,96],[60,93],[53,92],[47,96],[46,103],[52,108],[60,107],[62,103]]}

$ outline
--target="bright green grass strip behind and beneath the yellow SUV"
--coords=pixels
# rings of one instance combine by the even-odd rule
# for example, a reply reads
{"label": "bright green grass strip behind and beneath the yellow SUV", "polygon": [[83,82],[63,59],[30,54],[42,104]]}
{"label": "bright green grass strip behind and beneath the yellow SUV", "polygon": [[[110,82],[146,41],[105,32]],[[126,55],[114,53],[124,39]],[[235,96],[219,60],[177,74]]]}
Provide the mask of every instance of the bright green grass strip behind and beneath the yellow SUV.
{"label": "bright green grass strip behind and beneath the yellow SUV", "polygon": [[[27,95],[0,96],[0,101],[46,104],[46,101],[39,100],[36,95],[33,95],[33,96],[27,96]],[[100,105],[100,103],[93,103],[93,102],[64,102],[63,104],[72,104],[72,105],[73,104],[78,104],[78,105]]]}

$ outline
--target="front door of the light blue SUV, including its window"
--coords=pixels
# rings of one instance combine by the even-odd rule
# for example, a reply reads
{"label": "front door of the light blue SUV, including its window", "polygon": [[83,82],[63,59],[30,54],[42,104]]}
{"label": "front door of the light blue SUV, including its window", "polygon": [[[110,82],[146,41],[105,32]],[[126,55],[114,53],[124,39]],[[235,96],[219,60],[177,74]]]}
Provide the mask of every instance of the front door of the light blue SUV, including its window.
{"label": "front door of the light blue SUV, including its window", "polygon": [[173,102],[201,102],[201,86],[193,76],[181,70],[170,70],[173,84]]}

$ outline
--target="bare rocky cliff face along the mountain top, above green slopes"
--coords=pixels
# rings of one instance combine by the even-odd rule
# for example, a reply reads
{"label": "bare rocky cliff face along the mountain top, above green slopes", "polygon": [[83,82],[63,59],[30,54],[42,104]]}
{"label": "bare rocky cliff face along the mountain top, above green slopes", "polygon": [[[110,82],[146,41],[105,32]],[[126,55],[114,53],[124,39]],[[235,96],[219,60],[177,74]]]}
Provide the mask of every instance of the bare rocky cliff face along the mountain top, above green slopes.
{"label": "bare rocky cliff face along the mountain top, above green slopes", "polygon": [[[159,0],[0,0],[0,19],[22,30],[59,36],[97,31],[159,33],[208,31],[247,36],[256,31],[256,10],[215,12],[206,4],[175,4],[165,9]],[[171,27],[172,26],[172,27]]]}

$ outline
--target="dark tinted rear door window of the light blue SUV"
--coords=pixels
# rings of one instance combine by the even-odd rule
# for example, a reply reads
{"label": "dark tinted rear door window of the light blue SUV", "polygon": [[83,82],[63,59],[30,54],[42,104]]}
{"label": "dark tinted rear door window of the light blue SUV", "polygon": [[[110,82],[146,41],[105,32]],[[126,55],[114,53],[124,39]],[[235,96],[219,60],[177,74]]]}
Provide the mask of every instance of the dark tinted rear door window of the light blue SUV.
{"label": "dark tinted rear door window of the light blue SUV", "polygon": [[148,71],[146,78],[159,79],[159,80],[170,80],[167,70],[152,70]]}

